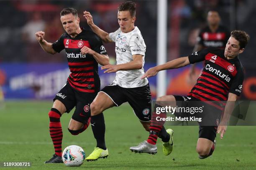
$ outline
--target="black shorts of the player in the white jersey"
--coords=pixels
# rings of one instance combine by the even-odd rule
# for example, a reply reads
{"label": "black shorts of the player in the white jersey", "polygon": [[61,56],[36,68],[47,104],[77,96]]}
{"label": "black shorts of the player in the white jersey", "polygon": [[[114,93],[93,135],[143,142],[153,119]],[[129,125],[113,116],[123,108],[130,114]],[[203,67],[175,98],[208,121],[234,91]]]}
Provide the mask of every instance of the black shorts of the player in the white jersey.
{"label": "black shorts of the player in the white jersey", "polygon": [[124,88],[112,83],[100,92],[108,95],[117,107],[128,102],[133,107],[135,115],[142,122],[151,120],[151,94],[148,84],[142,87]]}

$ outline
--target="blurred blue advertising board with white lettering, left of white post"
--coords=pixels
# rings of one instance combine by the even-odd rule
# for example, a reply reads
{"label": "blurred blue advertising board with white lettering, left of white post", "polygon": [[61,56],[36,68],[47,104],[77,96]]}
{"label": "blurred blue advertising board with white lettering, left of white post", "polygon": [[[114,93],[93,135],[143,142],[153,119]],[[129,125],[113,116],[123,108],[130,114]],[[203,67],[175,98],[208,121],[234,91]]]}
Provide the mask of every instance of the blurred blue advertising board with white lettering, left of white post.
{"label": "blurred blue advertising board with white lettering, left of white post", "polygon": [[[154,67],[147,64],[147,70]],[[67,82],[67,63],[2,63],[0,82],[5,99],[53,99]],[[113,83],[115,73],[104,73],[99,67],[101,88]],[[156,96],[156,77],[150,79],[151,95]]]}

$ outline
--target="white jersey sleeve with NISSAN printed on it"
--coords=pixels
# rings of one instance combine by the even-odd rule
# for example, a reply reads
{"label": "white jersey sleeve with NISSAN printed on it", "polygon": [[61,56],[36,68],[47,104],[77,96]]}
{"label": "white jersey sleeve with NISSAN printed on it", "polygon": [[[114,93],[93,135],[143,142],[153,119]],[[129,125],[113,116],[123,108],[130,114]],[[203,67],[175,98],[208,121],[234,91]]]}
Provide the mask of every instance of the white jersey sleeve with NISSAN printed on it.
{"label": "white jersey sleeve with NISSAN printed on it", "polygon": [[132,55],[141,54],[145,56],[146,45],[141,36],[137,34],[132,35],[130,38],[129,46],[130,46]]}

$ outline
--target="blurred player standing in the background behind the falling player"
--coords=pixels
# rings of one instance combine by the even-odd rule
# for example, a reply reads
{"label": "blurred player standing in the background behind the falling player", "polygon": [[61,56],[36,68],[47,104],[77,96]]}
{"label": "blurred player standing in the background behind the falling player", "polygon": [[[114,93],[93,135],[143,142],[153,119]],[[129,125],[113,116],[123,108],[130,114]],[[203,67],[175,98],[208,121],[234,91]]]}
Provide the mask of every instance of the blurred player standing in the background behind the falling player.
{"label": "blurred player standing in the background behind the falling player", "polygon": [[[220,25],[220,20],[221,18],[217,10],[210,10],[208,12],[207,26],[200,30],[193,52],[207,47],[225,48],[230,31]],[[199,72],[195,71],[195,64],[193,64],[189,72],[189,83],[195,84],[199,75]]]}

